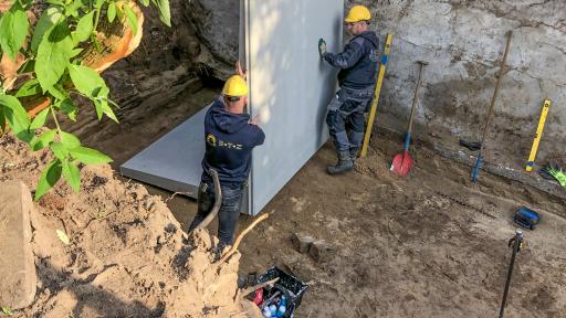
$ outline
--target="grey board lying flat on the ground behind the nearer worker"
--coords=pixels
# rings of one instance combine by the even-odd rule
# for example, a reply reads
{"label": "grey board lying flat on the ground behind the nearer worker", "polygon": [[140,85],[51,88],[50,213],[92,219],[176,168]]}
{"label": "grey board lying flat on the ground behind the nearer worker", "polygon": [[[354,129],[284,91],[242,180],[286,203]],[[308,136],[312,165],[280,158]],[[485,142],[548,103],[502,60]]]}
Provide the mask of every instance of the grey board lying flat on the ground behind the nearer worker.
{"label": "grey board lying flat on the ground behind the nearer worker", "polygon": [[197,198],[205,156],[201,109],[119,167],[125,177]]}

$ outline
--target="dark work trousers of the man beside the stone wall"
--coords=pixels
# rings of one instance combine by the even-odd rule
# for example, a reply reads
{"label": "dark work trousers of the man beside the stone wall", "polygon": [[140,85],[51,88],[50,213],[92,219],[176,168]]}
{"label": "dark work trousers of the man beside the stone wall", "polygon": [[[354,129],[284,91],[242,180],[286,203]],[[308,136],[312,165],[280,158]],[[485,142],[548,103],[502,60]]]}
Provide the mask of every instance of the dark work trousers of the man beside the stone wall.
{"label": "dark work trousers of the man beside the stone wall", "polygon": [[364,140],[364,112],[374,97],[374,87],[350,89],[343,87],[328,104],[326,124],[337,151],[359,148]]}

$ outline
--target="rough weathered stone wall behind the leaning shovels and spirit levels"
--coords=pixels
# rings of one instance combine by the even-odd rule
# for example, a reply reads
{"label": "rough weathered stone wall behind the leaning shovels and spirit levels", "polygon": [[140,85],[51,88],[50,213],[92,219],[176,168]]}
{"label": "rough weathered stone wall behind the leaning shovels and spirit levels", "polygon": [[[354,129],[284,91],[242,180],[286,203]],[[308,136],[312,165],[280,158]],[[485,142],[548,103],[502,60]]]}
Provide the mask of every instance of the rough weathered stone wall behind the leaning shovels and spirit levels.
{"label": "rough weathered stone wall behind the leaning shovels and spirit levels", "polygon": [[[526,162],[545,97],[553,106],[537,162],[566,159],[566,1],[374,0],[347,1],[346,7],[355,3],[370,8],[371,28],[381,39],[395,32],[378,112],[399,119],[392,125],[397,129],[405,129],[410,112],[415,61],[424,60],[430,64],[417,123],[441,142],[480,139],[505,32],[513,30],[510,68],[502,78],[486,142],[488,160],[512,168]],[[381,116],[379,125],[391,126],[388,118]]]}

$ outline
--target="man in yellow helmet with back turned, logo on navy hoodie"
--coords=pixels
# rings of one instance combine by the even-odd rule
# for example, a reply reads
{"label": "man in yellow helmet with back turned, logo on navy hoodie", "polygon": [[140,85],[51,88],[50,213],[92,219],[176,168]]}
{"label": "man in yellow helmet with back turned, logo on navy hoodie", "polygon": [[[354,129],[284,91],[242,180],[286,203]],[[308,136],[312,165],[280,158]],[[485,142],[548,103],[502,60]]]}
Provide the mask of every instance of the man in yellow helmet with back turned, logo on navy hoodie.
{"label": "man in yellow helmet with back turned, logo on navy hoodie", "polygon": [[258,126],[259,118],[244,113],[248,104],[245,73],[237,64],[240,75],[224,84],[222,95],[214,100],[205,117],[206,152],[198,194],[198,212],[189,232],[205,220],[214,205],[214,186],[210,169],[218,172],[222,202],[218,212],[218,251],[232,245],[240,216],[243,190],[248,184],[252,149],[263,144],[265,135]]}

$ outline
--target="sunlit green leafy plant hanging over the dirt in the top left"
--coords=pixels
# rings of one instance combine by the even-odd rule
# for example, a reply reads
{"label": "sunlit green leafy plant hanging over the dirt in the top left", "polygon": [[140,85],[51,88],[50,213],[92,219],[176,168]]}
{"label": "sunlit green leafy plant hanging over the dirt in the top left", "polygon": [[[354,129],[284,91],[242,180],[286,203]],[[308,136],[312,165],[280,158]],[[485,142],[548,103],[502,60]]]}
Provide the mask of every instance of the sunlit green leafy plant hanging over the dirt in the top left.
{"label": "sunlit green leafy plant hanging over the dirt in the top left", "polygon": [[[10,0],[0,0],[2,2]],[[57,117],[76,120],[77,98],[86,98],[96,110],[98,120],[107,116],[118,121],[109,99],[109,88],[104,78],[85,65],[81,54],[94,45],[103,50],[97,34],[101,19],[128,23],[134,34],[139,25],[129,1],[115,0],[14,0],[0,18],[0,53],[11,61],[24,61],[17,73],[15,87],[7,89],[7,78],[0,77],[0,129],[10,127],[33,151],[49,149],[54,159],[41,173],[35,189],[35,200],[45,194],[63,177],[78,192],[81,176],[78,165],[107,163],[112,159],[82,146],[78,138],[61,129]],[[139,0],[153,6],[160,20],[170,26],[168,0]],[[42,13],[33,25],[27,11],[41,8]],[[0,74],[1,75],[1,74]],[[22,80],[23,78],[23,80]],[[23,82],[23,83],[22,83]],[[31,96],[49,98],[49,107],[30,118],[22,100]],[[45,129],[48,118],[54,127]],[[41,135],[36,134],[42,129]],[[0,131],[1,132],[1,131]]]}

